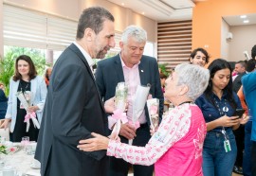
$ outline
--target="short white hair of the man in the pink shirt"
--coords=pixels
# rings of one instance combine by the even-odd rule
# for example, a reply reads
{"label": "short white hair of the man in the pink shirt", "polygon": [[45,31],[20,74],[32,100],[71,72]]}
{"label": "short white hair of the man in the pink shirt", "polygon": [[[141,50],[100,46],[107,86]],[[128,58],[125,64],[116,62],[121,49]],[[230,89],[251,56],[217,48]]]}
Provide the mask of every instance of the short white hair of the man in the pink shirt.
{"label": "short white hair of the man in the pink shirt", "polygon": [[121,42],[127,44],[130,37],[134,37],[138,43],[147,42],[147,32],[139,26],[127,26],[122,32]]}

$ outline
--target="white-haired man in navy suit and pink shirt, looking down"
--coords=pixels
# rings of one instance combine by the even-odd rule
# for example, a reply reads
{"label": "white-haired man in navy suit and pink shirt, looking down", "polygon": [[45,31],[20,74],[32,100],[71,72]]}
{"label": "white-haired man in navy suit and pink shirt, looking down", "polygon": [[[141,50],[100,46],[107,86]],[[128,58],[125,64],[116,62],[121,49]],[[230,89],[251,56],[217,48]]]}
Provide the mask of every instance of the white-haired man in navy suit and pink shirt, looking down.
{"label": "white-haired man in navy suit and pink shirt, looking down", "polygon": [[[144,56],[146,44],[146,31],[138,26],[128,26],[122,36],[119,46],[120,53],[110,59],[98,62],[96,82],[104,101],[115,96],[116,86],[119,82],[128,84],[128,111],[127,116],[132,120],[133,97],[137,85],[151,85],[150,94],[160,102],[160,115],[163,112],[163,94],[161,91],[158,66],[155,58]],[[144,111],[138,119],[140,127],[136,130],[129,123],[122,124],[119,132],[121,142],[128,143],[128,139],[134,139],[133,145],[145,146],[149,141],[150,121],[147,111]],[[153,174],[153,166],[133,166],[135,176],[150,176]],[[128,163],[114,157],[110,158],[109,176],[124,176],[128,173]]]}

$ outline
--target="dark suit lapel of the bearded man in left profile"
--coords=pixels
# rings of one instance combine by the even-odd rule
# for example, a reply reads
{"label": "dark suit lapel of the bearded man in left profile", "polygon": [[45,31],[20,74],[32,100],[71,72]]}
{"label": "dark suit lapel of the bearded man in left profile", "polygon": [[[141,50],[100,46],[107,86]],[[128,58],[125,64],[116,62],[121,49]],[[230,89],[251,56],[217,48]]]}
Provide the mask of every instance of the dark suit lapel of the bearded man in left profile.
{"label": "dark suit lapel of the bearded man in left profile", "polygon": [[103,106],[103,102],[102,102],[102,99],[101,99],[101,94],[100,94],[100,92],[99,92],[99,90],[98,90],[98,87],[97,87],[97,84],[96,84],[94,75],[93,75],[93,73],[92,73],[92,71],[91,71],[91,68],[90,68],[88,62],[86,61],[86,59],[85,59],[84,56],[82,55],[82,52],[80,51],[80,49],[79,49],[75,44],[70,44],[70,45],[69,45],[69,48],[70,48],[72,51],[74,51],[74,52],[78,55],[78,57],[79,57],[79,58],[81,59],[81,61],[84,63],[86,69],[89,71],[89,74],[90,74],[90,76],[91,76],[91,78],[92,78],[92,80],[93,80],[93,83],[94,83],[95,87],[96,87],[96,91],[97,91],[97,94],[98,94],[98,98],[99,98],[100,103],[101,103],[101,108],[102,108],[103,111],[105,111],[105,110],[104,110],[104,106]]}

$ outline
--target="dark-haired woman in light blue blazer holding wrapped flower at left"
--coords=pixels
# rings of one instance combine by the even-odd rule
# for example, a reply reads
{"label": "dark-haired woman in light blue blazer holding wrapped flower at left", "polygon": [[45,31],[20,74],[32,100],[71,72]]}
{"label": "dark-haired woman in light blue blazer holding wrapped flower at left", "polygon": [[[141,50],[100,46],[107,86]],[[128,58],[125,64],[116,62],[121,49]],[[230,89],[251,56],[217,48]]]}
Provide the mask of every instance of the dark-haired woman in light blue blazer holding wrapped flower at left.
{"label": "dark-haired woman in light blue blazer holding wrapped flower at left", "polygon": [[[34,127],[31,118],[28,118],[30,127],[27,132],[25,117],[27,113],[35,113],[37,120],[41,122],[47,90],[45,80],[37,76],[34,63],[27,55],[21,55],[16,59],[15,73],[10,79],[9,88],[8,110],[1,128],[7,129],[10,123],[13,142],[21,142],[23,136],[29,136],[30,141],[37,141],[39,130]],[[32,97],[27,97],[27,100],[31,101],[27,111],[17,98],[17,92],[32,93]]]}

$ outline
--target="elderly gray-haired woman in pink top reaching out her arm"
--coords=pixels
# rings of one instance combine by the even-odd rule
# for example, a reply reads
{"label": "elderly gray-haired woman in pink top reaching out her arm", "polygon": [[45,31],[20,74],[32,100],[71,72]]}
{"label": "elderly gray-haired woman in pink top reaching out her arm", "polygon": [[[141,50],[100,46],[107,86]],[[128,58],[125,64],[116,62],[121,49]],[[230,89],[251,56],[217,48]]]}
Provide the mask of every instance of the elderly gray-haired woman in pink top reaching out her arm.
{"label": "elderly gray-haired woman in pink top reaching out her arm", "polygon": [[155,175],[202,175],[202,147],[206,124],[200,109],[193,104],[208,85],[209,71],[198,65],[182,63],[167,79],[165,97],[174,109],[165,114],[157,131],[145,147],[129,146],[97,133],[95,138],[81,140],[84,151],[107,150],[108,156],[150,166]]}

